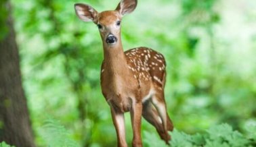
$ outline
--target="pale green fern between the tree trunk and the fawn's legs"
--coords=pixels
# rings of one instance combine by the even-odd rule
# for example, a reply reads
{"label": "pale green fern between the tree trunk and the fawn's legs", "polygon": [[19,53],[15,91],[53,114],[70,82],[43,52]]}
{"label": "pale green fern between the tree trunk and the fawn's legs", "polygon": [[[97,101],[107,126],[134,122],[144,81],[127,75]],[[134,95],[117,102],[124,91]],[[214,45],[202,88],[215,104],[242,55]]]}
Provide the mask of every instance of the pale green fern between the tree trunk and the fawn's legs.
{"label": "pale green fern between the tree trunk and the fawn's legs", "polygon": [[70,138],[70,133],[59,121],[47,119],[41,128],[41,135],[49,147],[79,147],[79,144]]}

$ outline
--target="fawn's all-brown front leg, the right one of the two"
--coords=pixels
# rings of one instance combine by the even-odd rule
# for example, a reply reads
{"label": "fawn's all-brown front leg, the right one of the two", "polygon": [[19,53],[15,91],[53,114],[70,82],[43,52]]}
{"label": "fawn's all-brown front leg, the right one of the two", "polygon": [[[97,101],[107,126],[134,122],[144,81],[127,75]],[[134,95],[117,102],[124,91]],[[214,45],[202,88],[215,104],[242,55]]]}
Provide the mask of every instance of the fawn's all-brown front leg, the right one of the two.
{"label": "fawn's all-brown front leg, the right one of the two", "polygon": [[131,109],[131,125],[133,127],[133,147],[142,146],[142,102],[133,102]]}

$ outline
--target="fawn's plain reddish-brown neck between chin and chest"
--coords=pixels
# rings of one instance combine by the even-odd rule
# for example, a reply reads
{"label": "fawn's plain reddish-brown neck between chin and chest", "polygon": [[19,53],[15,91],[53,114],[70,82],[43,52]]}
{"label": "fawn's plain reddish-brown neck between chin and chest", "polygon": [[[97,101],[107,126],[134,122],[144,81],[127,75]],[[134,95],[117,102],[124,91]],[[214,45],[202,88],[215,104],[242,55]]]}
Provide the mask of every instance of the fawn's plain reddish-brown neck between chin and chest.
{"label": "fawn's plain reddish-brown neck between chin and chest", "polygon": [[104,45],[105,70],[110,76],[122,76],[128,72],[127,60],[123,51],[121,40],[116,45]]}

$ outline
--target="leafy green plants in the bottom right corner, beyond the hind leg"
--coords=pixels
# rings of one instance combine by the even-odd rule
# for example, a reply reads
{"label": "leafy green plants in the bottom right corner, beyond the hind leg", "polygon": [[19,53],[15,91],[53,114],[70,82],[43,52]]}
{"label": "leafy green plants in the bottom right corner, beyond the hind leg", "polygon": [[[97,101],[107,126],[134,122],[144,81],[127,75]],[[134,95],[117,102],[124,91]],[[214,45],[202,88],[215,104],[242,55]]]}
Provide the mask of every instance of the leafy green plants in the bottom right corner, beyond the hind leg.
{"label": "leafy green plants in the bottom right corner, beyond the hind leg", "polygon": [[249,146],[252,143],[238,131],[233,131],[227,124],[213,126],[207,130],[207,134],[203,135],[191,136],[177,129],[171,135],[171,146]]}

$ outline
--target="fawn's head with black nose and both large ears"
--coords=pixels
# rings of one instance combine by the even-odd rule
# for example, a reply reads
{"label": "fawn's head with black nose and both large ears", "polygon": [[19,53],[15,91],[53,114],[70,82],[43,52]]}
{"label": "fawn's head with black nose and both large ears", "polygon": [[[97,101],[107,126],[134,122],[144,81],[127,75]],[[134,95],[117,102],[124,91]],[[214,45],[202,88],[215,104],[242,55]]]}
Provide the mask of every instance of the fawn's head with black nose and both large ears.
{"label": "fawn's head with black nose and both large ears", "polygon": [[[74,9],[84,22],[93,22],[100,30],[104,45],[114,46],[120,43],[121,20],[137,6],[137,0],[121,0],[116,9],[98,13],[93,7],[76,3]],[[118,43],[117,43],[118,42]]]}

